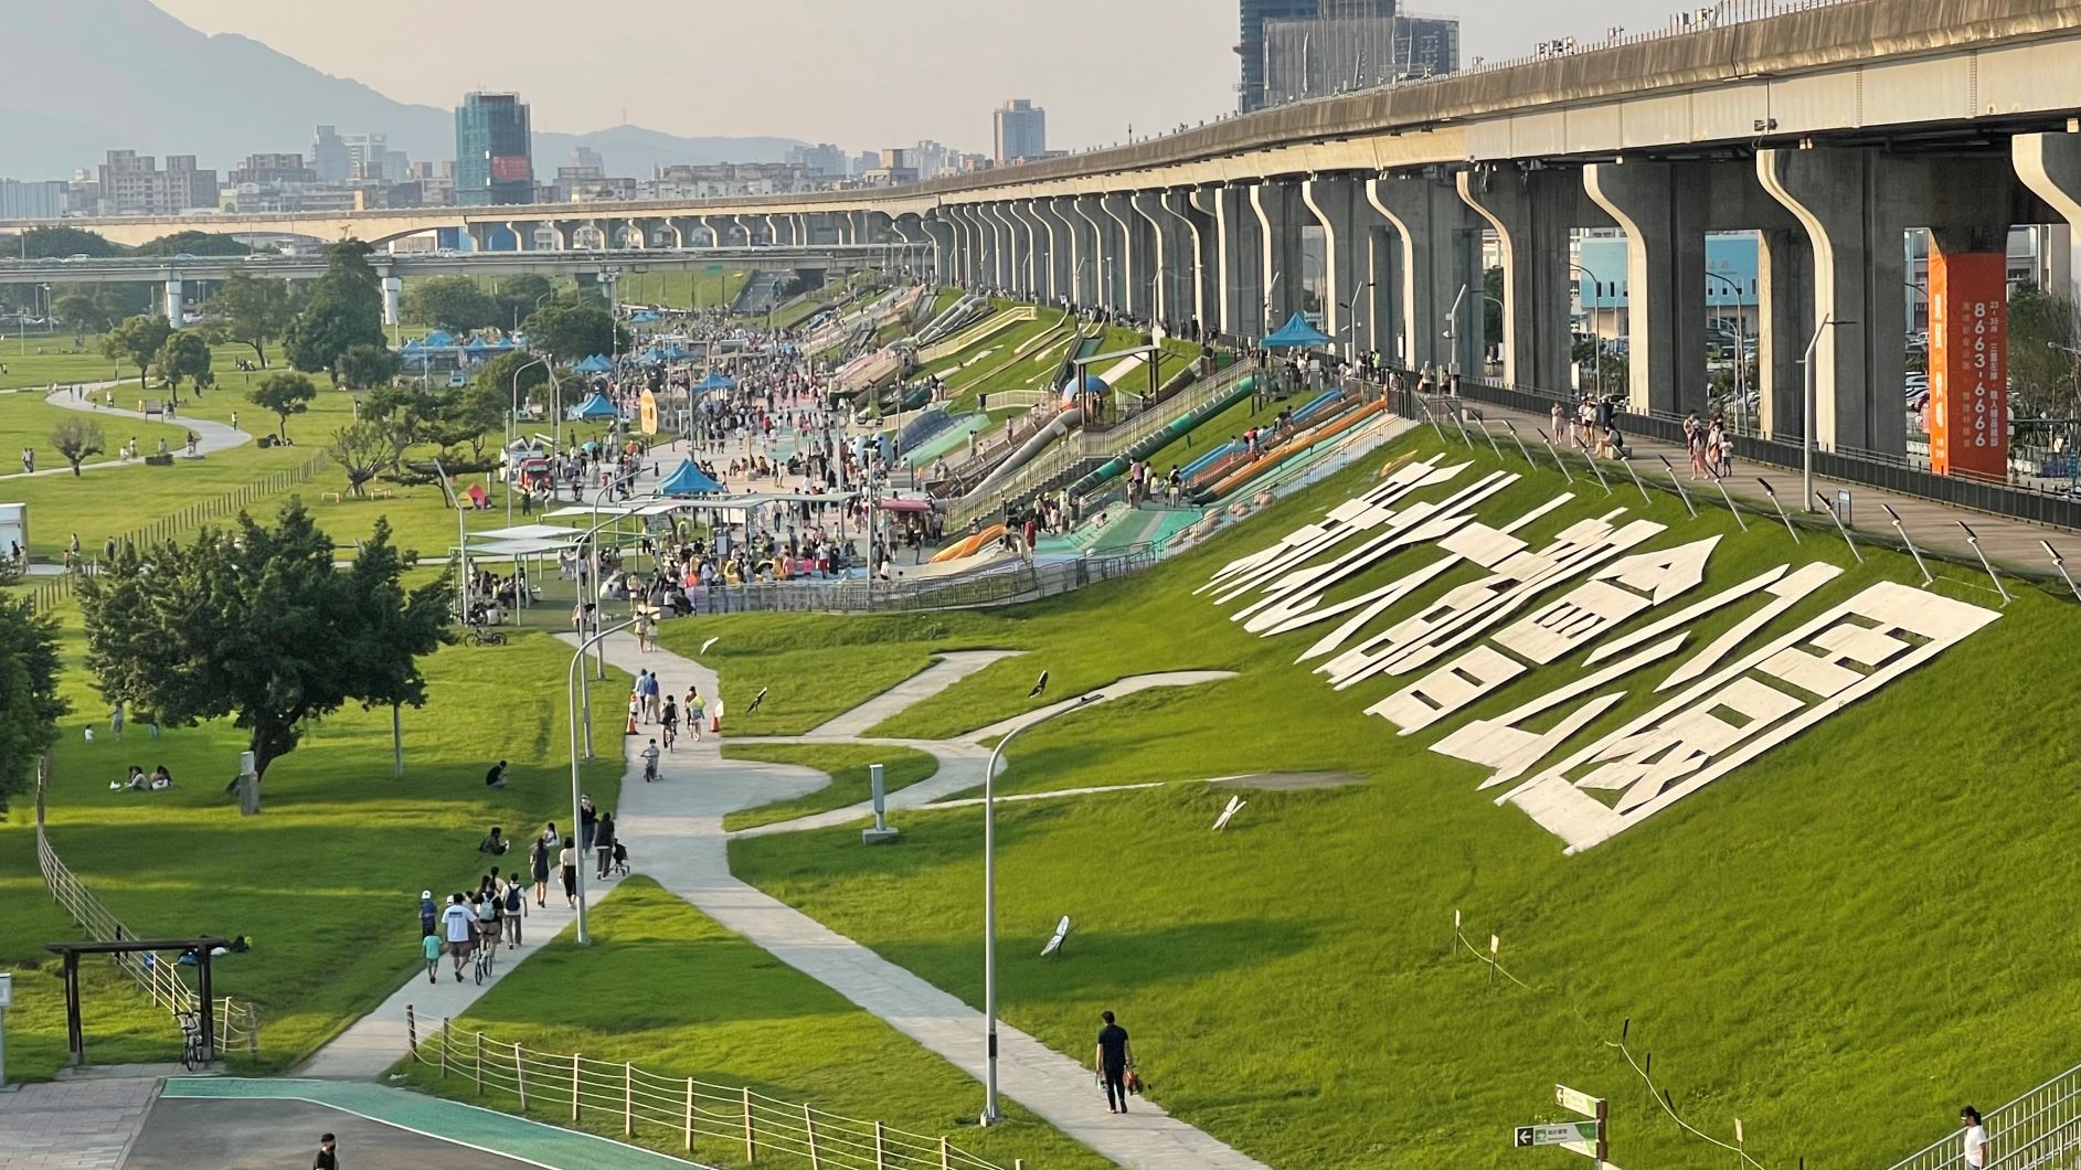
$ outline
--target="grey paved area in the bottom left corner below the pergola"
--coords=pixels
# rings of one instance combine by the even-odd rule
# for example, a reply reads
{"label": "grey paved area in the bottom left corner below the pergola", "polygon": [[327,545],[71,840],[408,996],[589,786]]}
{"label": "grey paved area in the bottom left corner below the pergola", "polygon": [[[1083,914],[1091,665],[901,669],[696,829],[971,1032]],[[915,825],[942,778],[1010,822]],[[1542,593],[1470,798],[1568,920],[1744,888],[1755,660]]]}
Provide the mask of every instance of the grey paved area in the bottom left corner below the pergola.
{"label": "grey paved area in the bottom left corner below the pergola", "polygon": [[117,1170],[158,1078],[0,1089],[0,1170]]}

